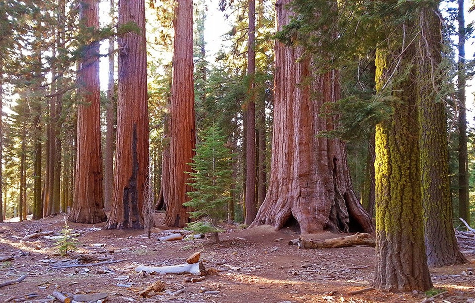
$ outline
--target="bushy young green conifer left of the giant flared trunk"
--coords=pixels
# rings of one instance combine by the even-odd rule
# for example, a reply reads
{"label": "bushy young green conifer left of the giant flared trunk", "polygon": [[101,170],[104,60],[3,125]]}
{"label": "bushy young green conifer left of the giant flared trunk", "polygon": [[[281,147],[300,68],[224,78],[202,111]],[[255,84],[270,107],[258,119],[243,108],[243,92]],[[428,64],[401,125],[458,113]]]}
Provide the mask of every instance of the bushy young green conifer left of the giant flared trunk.
{"label": "bushy young green conifer left of the giant flared trunk", "polygon": [[219,242],[218,222],[226,214],[226,205],[231,199],[232,154],[226,147],[226,137],[217,126],[209,127],[203,132],[202,142],[196,148],[196,155],[189,165],[192,168],[189,185],[193,191],[187,193],[191,200],[184,203],[191,206],[194,211],[190,212],[191,218],[198,221],[188,224],[187,229],[195,233],[211,233],[216,242]]}

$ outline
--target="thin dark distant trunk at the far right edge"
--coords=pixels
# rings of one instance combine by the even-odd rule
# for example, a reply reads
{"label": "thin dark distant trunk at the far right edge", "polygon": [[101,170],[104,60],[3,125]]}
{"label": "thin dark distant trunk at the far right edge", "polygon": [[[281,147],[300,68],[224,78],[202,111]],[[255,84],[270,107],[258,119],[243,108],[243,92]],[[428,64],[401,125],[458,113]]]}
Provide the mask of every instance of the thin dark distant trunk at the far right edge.
{"label": "thin dark distant trunk at the far right edge", "polygon": [[458,0],[458,215],[470,224],[468,198],[468,152],[466,114],[465,16],[464,0]]}

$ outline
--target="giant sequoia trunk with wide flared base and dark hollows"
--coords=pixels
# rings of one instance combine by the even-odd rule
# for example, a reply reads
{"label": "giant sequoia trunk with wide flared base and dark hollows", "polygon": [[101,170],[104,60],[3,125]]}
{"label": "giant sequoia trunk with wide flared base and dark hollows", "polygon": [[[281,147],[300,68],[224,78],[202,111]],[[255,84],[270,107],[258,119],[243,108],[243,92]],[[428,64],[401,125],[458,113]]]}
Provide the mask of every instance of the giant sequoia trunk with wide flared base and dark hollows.
{"label": "giant sequoia trunk with wide flared base and dark hollows", "polygon": [[[277,30],[289,22],[289,2],[276,4]],[[352,188],[344,143],[316,137],[336,123],[320,114],[324,103],[340,98],[339,73],[316,74],[310,59],[296,62],[302,55],[303,49],[276,42],[271,174],[251,226],[298,224],[303,234],[372,232],[371,219]]]}

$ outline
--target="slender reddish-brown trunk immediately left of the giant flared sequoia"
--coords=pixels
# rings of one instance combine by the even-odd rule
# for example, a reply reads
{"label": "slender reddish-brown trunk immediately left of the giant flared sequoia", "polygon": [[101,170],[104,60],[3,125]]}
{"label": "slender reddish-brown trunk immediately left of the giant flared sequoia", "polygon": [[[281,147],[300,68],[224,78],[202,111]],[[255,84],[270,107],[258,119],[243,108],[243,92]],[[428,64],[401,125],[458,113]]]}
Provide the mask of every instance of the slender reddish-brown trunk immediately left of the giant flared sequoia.
{"label": "slender reddish-brown trunk immediately left of the giant flared sequoia", "polygon": [[247,76],[249,89],[246,116],[246,217],[244,223],[250,225],[256,218],[256,92],[255,71],[256,52],[254,36],[256,34],[256,0],[249,0],[248,7],[249,29],[247,30]]}

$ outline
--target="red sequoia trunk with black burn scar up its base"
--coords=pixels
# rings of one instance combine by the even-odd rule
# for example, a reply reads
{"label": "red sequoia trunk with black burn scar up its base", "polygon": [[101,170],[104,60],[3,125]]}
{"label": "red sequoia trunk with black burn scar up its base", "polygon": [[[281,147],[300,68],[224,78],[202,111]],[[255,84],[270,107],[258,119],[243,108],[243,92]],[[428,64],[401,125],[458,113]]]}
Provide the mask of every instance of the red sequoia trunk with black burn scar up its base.
{"label": "red sequoia trunk with black burn scar up its base", "polygon": [[105,229],[143,228],[142,206],[150,182],[144,0],[119,1],[118,24],[129,22],[134,22],[140,32],[131,31],[117,38],[114,199]]}

